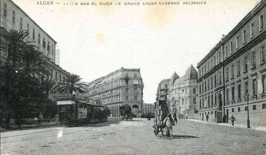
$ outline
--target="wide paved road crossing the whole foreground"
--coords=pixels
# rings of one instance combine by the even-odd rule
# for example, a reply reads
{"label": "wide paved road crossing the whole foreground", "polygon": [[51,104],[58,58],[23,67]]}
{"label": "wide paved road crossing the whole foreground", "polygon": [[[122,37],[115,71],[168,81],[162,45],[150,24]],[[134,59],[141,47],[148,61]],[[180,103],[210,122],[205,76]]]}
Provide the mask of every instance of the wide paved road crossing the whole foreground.
{"label": "wide paved road crossing the whole foreground", "polygon": [[[153,119],[1,133],[1,154],[266,154],[266,132],[179,120],[174,139],[154,136]],[[264,145],[263,145],[264,144]]]}

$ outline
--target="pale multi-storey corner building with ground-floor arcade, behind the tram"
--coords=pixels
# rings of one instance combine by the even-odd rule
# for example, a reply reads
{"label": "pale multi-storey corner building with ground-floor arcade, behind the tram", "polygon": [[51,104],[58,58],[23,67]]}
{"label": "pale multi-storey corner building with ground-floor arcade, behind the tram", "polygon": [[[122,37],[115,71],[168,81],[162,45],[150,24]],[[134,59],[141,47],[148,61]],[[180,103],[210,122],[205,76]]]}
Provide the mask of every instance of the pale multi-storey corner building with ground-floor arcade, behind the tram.
{"label": "pale multi-storey corner building with ground-floor arcade, behind the tram", "polygon": [[88,98],[108,106],[113,117],[119,117],[119,107],[130,105],[133,114],[141,115],[143,82],[140,69],[118,69],[93,80],[86,87]]}

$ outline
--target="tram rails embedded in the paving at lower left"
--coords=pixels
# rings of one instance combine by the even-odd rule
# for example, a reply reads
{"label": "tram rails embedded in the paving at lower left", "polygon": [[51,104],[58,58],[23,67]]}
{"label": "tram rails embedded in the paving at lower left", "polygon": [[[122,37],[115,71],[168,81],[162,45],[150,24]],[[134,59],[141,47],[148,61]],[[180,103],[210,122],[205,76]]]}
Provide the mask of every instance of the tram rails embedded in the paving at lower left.
{"label": "tram rails embedded in the paving at lower left", "polygon": [[[101,127],[101,126],[105,126],[105,125],[110,125],[112,124],[113,121],[111,121],[110,123],[107,123],[107,124],[89,124],[89,125],[98,125],[97,127]],[[96,128],[95,127],[91,127],[91,128],[86,128],[86,129],[83,129],[83,130],[77,130],[77,129],[71,129],[71,130],[76,130],[76,131],[73,131],[73,132],[69,132],[71,130],[67,130],[66,133],[62,133],[62,135],[66,135],[66,134],[71,134],[71,133],[77,133],[77,132],[81,132],[81,131],[89,131],[93,128]],[[68,128],[65,128],[65,129],[68,129]],[[70,128],[69,128],[70,129]],[[47,130],[47,131],[41,131],[41,132],[35,132],[35,133],[27,133],[27,134],[21,134],[21,135],[14,135],[14,136],[6,136],[6,137],[1,137],[1,142],[0,144],[4,144],[4,143],[10,143],[10,142],[19,142],[19,141],[25,141],[25,140],[32,140],[32,139],[40,139],[40,138],[46,138],[46,137],[52,137],[52,136],[58,136],[58,133],[56,134],[53,134],[53,135],[42,135],[40,137],[33,137],[33,138],[29,138],[27,139],[27,137],[25,138],[20,138],[20,139],[10,139],[11,141],[7,141],[7,142],[2,142],[5,138],[10,138],[10,137],[17,137],[17,136],[25,136],[25,135],[34,135],[34,134],[38,134],[38,133],[45,133],[45,132],[50,132],[50,131],[56,131],[56,130],[62,130],[62,129],[53,129],[53,130]],[[32,136],[31,136],[32,137]]]}

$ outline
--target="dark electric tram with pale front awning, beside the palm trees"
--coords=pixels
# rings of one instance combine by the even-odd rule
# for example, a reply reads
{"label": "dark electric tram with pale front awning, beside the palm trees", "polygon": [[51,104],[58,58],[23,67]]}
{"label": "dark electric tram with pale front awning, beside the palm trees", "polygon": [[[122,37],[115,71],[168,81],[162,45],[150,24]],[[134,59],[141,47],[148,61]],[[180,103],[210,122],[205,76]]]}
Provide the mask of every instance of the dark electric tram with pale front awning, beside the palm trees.
{"label": "dark electric tram with pale front awning, beside the palm trees", "polygon": [[83,95],[59,94],[56,104],[63,124],[88,124],[107,121],[108,107]]}

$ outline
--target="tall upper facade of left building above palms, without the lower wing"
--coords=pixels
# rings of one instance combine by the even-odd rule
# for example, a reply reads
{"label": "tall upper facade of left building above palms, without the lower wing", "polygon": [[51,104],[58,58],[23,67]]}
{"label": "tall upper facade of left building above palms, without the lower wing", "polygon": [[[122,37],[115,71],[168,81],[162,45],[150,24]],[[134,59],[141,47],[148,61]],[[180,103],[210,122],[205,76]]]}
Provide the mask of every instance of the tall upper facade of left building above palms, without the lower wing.
{"label": "tall upper facade of left building above palms, without the lower wing", "polygon": [[[1,28],[6,31],[28,31],[26,41],[32,42],[48,59],[55,63],[56,41],[50,37],[37,23],[34,22],[20,7],[11,0],[1,0]],[[1,38],[2,39],[2,38]],[[1,60],[8,53],[2,53]]]}

